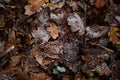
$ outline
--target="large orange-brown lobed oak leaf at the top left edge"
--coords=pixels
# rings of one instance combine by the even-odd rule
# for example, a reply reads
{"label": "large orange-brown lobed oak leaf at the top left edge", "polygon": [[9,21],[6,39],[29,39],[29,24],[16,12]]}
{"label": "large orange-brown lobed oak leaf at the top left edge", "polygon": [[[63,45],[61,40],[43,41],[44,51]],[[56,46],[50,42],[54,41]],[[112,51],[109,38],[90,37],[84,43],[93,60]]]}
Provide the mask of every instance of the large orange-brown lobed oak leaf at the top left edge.
{"label": "large orange-brown lobed oak leaf at the top left edge", "polygon": [[28,0],[28,5],[25,6],[25,14],[32,15],[35,12],[40,12],[40,7],[44,6],[48,0]]}

